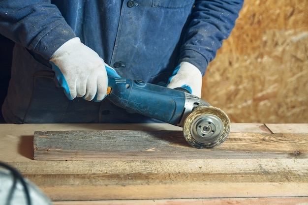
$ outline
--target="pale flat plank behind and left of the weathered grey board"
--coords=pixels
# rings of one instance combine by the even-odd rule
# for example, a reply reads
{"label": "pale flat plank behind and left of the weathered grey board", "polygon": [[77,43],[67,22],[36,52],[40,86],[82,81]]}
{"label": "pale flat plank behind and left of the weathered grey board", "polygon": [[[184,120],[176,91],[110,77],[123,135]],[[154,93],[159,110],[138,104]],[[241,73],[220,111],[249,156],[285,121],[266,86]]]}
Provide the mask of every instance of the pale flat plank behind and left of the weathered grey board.
{"label": "pale flat plank behind and left of the weathered grey board", "polygon": [[[232,132],[265,132],[261,123],[231,123]],[[140,124],[0,124],[0,160],[4,162],[33,159],[35,131],[67,130],[148,130],[181,131],[182,128],[166,123]],[[22,145],[22,146],[21,146]]]}

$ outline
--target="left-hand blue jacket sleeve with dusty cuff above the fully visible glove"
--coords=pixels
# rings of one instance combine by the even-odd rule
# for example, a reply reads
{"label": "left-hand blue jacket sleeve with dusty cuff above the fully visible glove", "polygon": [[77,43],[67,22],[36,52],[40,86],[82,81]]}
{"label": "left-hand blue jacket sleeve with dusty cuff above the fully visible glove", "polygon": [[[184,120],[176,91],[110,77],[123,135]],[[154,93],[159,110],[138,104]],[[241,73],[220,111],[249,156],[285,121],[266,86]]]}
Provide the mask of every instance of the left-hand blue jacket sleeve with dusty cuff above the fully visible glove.
{"label": "left-hand blue jacket sleeve with dusty cuff above the fully visible glove", "polygon": [[0,0],[0,34],[47,60],[75,37],[50,0]]}

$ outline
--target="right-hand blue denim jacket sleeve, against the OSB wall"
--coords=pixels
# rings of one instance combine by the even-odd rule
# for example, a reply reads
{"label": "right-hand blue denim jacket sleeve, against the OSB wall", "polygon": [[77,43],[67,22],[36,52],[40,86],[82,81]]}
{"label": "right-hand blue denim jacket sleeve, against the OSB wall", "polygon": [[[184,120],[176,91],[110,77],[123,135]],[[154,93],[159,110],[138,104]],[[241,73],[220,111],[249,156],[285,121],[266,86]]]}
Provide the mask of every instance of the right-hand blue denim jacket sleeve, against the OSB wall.
{"label": "right-hand blue denim jacket sleeve, against the OSB wall", "polygon": [[196,0],[179,61],[190,62],[204,75],[234,28],[243,3],[244,0]]}

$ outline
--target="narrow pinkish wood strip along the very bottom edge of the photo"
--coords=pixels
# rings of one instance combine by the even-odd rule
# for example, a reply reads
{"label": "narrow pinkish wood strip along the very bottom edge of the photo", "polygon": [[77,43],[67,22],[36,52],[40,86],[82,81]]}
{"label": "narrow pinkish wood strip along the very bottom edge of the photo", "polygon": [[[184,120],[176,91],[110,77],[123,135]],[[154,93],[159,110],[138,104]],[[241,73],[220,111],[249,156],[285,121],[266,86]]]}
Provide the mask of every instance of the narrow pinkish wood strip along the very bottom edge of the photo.
{"label": "narrow pinkish wood strip along the very bottom edge of the photo", "polygon": [[307,197],[66,201],[54,205],[308,205]]}

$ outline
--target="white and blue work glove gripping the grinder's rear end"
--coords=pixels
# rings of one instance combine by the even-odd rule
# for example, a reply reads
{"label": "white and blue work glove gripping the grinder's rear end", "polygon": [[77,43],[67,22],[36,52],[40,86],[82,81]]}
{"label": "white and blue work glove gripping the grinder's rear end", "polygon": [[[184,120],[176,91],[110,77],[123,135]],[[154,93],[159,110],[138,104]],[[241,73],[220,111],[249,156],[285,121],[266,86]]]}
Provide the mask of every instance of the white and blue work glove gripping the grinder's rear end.
{"label": "white and blue work glove gripping the grinder's rear end", "polygon": [[50,63],[56,79],[70,100],[83,97],[88,101],[102,101],[107,94],[107,72],[120,77],[78,37],[64,43],[52,55]]}

